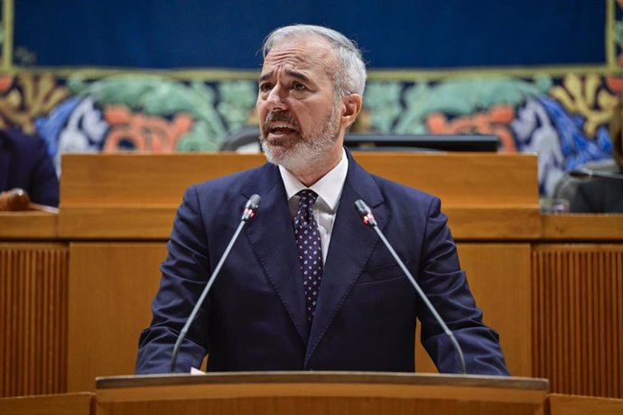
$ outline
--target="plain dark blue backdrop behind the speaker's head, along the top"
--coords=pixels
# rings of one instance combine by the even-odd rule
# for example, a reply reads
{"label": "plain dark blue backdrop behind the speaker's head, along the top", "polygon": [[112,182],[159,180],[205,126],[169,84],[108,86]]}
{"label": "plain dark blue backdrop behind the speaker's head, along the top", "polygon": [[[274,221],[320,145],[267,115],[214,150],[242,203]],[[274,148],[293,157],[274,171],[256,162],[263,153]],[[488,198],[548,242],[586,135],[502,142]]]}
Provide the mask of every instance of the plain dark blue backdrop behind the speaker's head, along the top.
{"label": "plain dark blue backdrop behind the speaker's head, along the top", "polygon": [[[16,0],[14,50],[37,66],[256,69],[265,35],[328,25],[372,69],[603,64],[600,0]],[[16,64],[20,64],[16,57]]]}

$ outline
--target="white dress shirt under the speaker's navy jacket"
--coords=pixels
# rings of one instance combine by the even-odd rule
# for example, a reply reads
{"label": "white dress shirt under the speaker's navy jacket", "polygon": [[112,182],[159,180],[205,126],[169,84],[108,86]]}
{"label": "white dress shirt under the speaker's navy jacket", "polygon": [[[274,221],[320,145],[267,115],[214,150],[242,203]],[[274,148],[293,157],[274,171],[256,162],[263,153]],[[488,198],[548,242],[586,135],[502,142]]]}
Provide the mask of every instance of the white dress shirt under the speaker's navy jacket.
{"label": "white dress shirt under the speaker's navy jacket", "polygon": [[279,166],[279,171],[281,172],[282,180],[284,180],[285,194],[288,197],[288,207],[290,208],[292,219],[294,219],[296,211],[299,209],[299,197],[296,196],[298,192],[303,189],[312,189],[318,194],[316,203],[313,205],[313,217],[316,219],[321,233],[322,263],[326,263],[335,214],[338,212],[339,197],[344,188],[346,173],[349,171],[349,158],[346,156],[346,151],[342,149],[342,159],[338,165],[325,174],[321,180],[316,181],[310,188],[297,180],[284,167]]}

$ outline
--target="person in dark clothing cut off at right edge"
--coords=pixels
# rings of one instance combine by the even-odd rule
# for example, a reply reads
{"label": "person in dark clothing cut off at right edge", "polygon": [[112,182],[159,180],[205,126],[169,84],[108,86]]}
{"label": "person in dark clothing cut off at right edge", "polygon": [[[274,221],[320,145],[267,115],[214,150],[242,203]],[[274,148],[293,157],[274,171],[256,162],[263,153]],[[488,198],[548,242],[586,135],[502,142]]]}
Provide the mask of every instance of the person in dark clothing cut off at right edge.
{"label": "person in dark clothing cut off at right edge", "polygon": [[[618,179],[590,178],[578,183],[570,201],[574,213],[623,213],[623,96],[618,99],[610,119],[612,153],[618,166]],[[615,173],[616,174],[616,173]]]}

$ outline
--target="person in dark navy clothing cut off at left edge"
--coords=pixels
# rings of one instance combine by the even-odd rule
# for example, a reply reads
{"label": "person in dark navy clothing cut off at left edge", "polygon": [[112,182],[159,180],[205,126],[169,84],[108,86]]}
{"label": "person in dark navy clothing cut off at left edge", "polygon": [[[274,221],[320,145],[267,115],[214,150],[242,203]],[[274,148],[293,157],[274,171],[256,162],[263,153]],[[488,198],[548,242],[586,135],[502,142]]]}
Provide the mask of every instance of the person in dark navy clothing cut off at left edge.
{"label": "person in dark navy clothing cut off at left edge", "polygon": [[59,179],[42,138],[0,131],[0,191],[26,190],[33,203],[59,206]]}

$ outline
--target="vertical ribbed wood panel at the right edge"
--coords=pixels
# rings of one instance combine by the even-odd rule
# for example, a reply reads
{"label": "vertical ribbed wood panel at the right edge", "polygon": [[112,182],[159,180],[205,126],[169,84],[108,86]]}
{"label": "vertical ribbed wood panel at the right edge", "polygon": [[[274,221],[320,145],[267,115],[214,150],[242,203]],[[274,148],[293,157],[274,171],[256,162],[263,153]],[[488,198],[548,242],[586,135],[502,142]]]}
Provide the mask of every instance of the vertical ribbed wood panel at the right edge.
{"label": "vertical ribbed wood panel at the right edge", "polygon": [[623,398],[623,246],[535,245],[532,270],[533,375]]}

